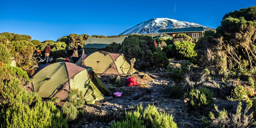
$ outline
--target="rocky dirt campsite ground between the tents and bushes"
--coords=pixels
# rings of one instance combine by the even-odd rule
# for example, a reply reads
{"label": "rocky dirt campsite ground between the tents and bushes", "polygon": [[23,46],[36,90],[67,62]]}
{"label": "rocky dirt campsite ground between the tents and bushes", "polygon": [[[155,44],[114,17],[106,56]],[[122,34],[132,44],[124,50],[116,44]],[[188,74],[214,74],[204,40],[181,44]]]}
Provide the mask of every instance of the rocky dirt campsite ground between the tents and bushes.
{"label": "rocky dirt campsite ground between the tents and bushes", "polygon": [[[171,61],[173,66],[179,66],[180,61]],[[199,67],[194,75],[199,74]],[[122,87],[116,87],[114,84],[116,77],[114,75],[99,75],[99,78],[105,83],[112,92],[122,92],[122,97],[106,97],[105,100],[96,102],[93,105],[85,104],[81,110],[86,114],[78,120],[69,122],[73,128],[107,128],[113,120],[120,120],[125,114],[125,110],[135,110],[137,105],[142,104],[146,108],[148,104],[154,104],[160,112],[166,112],[174,116],[174,121],[180,128],[201,128],[202,119],[208,118],[210,111],[216,111],[214,104],[219,108],[225,108],[228,112],[235,112],[238,102],[225,100],[225,96],[219,91],[214,91],[212,81],[204,83],[205,86],[212,88],[214,92],[214,103],[212,103],[204,113],[192,111],[187,107],[185,98],[169,98],[169,87],[174,84],[171,78],[165,77],[166,72],[159,70],[144,71],[133,76],[139,86],[127,86],[125,84],[127,76],[121,76]],[[215,79],[216,83],[222,85],[221,80]],[[61,107],[64,102],[57,106]],[[244,104],[244,103],[243,103]],[[245,106],[242,106],[245,108]]]}

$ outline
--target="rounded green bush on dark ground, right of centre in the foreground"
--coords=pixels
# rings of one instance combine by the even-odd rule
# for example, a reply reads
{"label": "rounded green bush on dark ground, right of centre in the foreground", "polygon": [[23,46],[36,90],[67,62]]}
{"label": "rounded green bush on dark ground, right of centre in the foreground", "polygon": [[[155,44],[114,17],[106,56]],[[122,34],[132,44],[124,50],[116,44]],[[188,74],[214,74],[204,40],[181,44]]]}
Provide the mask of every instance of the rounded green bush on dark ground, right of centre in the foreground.
{"label": "rounded green bush on dark ground, right of centre in the foreground", "polygon": [[199,90],[193,89],[188,94],[188,106],[190,108],[203,111],[207,106],[209,106],[212,102],[213,92],[209,89],[203,87]]}

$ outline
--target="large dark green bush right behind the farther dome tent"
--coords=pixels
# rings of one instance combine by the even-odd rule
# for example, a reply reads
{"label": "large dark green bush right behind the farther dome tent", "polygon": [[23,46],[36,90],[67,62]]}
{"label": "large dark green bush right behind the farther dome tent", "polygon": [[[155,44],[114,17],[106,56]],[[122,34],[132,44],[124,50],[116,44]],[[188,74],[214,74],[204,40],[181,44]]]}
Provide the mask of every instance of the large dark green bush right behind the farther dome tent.
{"label": "large dark green bush right behind the farther dome tent", "polygon": [[156,51],[154,40],[151,36],[131,35],[122,43],[122,53],[126,60],[136,59],[136,68],[147,68],[153,66],[152,52]]}

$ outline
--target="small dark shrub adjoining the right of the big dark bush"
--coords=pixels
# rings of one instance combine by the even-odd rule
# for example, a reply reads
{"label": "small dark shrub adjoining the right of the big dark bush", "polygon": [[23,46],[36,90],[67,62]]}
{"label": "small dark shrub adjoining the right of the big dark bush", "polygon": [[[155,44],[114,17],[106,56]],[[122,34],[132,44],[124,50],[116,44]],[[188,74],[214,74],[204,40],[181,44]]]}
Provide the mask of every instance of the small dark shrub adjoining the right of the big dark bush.
{"label": "small dark shrub adjoining the right of the big dark bush", "polygon": [[169,64],[169,59],[166,57],[166,54],[159,49],[159,51],[154,52],[152,55],[153,64],[156,67],[165,68]]}

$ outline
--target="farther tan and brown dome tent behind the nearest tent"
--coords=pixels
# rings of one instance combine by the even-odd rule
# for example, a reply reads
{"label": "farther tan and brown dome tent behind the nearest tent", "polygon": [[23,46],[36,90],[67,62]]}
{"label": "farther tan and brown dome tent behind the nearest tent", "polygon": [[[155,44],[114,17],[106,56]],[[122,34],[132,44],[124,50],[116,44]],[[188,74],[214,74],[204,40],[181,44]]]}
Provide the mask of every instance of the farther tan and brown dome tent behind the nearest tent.
{"label": "farther tan and brown dome tent behind the nearest tent", "polygon": [[[92,67],[96,74],[127,74],[131,65],[125,60],[123,54],[105,51],[92,54],[82,54],[76,62],[77,65]],[[132,73],[137,72],[133,68]]]}

